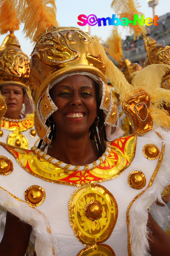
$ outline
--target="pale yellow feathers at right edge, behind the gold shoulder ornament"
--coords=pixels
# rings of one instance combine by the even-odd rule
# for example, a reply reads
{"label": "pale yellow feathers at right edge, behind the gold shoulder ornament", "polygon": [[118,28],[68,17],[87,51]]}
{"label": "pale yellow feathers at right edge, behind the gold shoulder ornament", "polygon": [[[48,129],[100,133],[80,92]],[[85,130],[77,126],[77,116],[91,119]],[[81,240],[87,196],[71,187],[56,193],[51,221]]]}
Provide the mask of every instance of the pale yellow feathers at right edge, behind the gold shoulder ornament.
{"label": "pale yellow feathers at right edge, behind the gold shoulder ornament", "polygon": [[161,88],[162,78],[168,71],[170,71],[170,65],[152,64],[136,72],[132,80],[134,94],[145,90],[151,96],[153,120],[163,128],[170,127],[170,116],[163,109],[163,105],[170,106],[170,90]]}

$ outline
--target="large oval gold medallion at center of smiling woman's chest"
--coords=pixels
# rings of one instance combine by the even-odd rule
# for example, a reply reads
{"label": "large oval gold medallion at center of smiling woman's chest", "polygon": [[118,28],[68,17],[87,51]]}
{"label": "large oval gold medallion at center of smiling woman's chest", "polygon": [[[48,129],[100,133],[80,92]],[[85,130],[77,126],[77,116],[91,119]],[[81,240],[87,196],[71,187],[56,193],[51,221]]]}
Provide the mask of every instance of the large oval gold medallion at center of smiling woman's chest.
{"label": "large oval gold medallion at center of smiling woman's chest", "polygon": [[82,244],[106,241],[118,217],[114,196],[98,184],[87,184],[76,189],[68,209],[71,227]]}

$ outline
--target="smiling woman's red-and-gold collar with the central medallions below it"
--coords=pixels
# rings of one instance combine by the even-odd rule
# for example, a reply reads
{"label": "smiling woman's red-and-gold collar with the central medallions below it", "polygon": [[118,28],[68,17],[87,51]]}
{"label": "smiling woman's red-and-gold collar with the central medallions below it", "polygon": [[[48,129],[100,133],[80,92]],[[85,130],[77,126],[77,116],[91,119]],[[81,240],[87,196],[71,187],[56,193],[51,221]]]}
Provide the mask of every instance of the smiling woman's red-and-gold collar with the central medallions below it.
{"label": "smiling woman's red-and-gold collar with the central medallions below it", "polygon": [[118,204],[110,191],[98,183],[118,177],[130,166],[135,156],[136,144],[135,135],[114,140],[106,160],[84,171],[70,171],[67,167],[63,169],[60,167],[61,161],[54,164],[54,158],[50,155],[45,159],[48,155],[36,147],[33,150],[24,150],[5,144],[3,146],[33,176],[78,187],[72,193],[68,204],[70,225],[76,238],[86,246],[77,256],[115,256],[114,250],[104,242],[115,227]]}

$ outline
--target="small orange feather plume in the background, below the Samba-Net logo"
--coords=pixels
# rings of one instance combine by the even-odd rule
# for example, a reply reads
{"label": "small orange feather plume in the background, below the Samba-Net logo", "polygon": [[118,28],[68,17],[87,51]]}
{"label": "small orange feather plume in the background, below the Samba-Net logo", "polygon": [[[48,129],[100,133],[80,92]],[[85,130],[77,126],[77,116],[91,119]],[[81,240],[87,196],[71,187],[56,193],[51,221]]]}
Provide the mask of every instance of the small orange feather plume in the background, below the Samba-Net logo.
{"label": "small orange feather plume in the background, below the Samba-Net logo", "polygon": [[106,45],[108,46],[108,54],[116,61],[120,61],[123,56],[122,39],[118,33],[117,27],[114,27],[111,32],[111,36],[107,39]]}

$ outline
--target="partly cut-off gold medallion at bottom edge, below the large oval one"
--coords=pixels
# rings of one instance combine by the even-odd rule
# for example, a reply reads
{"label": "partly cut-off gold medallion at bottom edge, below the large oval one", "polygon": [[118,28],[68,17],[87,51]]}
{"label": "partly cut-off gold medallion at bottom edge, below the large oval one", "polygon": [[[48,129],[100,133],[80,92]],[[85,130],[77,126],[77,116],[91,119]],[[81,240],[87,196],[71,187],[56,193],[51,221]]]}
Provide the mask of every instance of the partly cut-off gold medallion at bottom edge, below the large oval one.
{"label": "partly cut-off gold medallion at bottom edge, below the large oval one", "polygon": [[77,256],[116,256],[113,249],[107,244],[95,244],[84,248]]}

